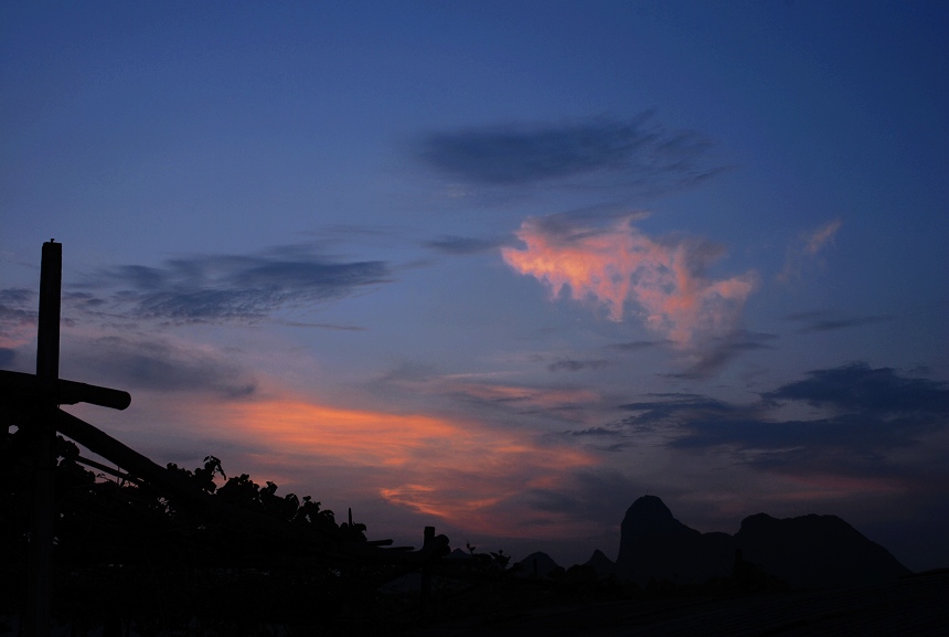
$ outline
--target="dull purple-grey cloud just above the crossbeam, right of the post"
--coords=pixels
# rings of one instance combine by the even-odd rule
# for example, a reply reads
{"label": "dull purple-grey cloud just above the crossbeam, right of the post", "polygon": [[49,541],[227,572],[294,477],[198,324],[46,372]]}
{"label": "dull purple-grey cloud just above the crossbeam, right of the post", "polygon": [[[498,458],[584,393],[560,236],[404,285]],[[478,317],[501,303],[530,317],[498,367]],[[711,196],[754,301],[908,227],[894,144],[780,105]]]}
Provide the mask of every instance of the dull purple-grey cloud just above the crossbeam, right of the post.
{"label": "dull purple-grey cloud just above the crossbeam, right of the post", "polygon": [[[249,396],[256,381],[221,354],[149,337],[104,337],[64,355],[64,371],[121,390]],[[70,371],[72,370],[72,371]]]}

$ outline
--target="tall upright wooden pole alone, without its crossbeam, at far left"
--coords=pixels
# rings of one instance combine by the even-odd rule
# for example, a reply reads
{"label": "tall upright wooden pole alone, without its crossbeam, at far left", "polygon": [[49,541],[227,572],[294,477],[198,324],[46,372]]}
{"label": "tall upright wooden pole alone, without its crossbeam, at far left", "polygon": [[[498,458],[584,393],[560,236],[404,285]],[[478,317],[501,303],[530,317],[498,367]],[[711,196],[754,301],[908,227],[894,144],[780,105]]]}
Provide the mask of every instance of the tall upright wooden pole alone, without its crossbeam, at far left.
{"label": "tall upright wooden pole alone, without its crossbeam, at far left", "polygon": [[35,495],[33,501],[33,538],[30,543],[30,622],[34,637],[50,634],[52,570],[53,570],[53,488],[56,439],[56,382],[60,378],[60,304],[63,279],[63,245],[50,241],[43,244],[40,266],[40,317],[36,333],[36,378],[46,399],[36,408],[32,426],[35,431],[34,457]]}

